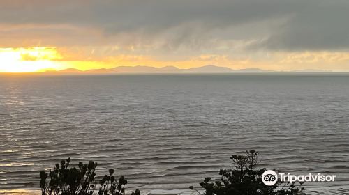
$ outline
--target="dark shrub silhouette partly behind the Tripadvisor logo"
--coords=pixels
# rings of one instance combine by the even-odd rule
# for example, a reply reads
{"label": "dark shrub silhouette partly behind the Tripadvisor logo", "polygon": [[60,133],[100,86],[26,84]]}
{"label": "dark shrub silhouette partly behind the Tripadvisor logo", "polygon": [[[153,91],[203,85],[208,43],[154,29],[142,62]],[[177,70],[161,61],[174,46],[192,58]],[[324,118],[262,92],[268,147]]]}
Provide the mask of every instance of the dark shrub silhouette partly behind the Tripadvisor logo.
{"label": "dark shrub silhouette partly behind the Tripadvisor logo", "polygon": [[[267,186],[262,182],[262,174],[266,169],[255,170],[258,164],[259,153],[255,150],[246,151],[245,155],[232,155],[232,169],[221,169],[221,180],[211,182],[211,178],[205,178],[200,182],[204,187],[205,195],[294,195],[304,189],[302,182],[295,186],[289,182],[276,182],[275,185]],[[189,187],[194,189],[193,186]],[[196,190],[196,189],[195,189]],[[196,190],[198,192],[198,190]],[[198,192],[200,194],[200,192]]]}

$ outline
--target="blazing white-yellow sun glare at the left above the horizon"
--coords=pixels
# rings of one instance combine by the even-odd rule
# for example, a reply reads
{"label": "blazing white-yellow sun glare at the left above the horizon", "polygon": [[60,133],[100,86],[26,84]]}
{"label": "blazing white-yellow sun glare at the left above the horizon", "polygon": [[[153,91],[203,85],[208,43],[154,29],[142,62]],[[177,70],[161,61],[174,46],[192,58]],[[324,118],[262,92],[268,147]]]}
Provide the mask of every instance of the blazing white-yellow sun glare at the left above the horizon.
{"label": "blazing white-yellow sun glare at the left above the horizon", "polygon": [[0,72],[37,72],[57,68],[61,56],[52,47],[0,48]]}

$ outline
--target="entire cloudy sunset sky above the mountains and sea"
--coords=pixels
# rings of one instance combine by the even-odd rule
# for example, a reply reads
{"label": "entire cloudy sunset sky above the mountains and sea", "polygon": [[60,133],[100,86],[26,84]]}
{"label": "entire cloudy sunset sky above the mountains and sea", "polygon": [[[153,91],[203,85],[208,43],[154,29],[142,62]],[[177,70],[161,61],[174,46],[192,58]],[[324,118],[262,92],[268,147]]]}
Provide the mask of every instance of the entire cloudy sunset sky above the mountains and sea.
{"label": "entire cloudy sunset sky above the mountains and sea", "polygon": [[1,0],[0,72],[349,71],[348,0]]}

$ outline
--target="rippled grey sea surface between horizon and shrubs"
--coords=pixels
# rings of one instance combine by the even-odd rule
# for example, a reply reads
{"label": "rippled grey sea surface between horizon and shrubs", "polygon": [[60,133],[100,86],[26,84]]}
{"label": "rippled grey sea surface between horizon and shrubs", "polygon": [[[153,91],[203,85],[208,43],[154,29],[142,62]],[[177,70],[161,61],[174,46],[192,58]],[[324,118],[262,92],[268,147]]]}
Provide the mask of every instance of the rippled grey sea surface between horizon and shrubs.
{"label": "rippled grey sea surface between horizon and shrubs", "polygon": [[260,151],[260,168],[335,174],[349,193],[349,75],[0,75],[0,189],[38,189],[61,159],[141,190],[199,187]]}

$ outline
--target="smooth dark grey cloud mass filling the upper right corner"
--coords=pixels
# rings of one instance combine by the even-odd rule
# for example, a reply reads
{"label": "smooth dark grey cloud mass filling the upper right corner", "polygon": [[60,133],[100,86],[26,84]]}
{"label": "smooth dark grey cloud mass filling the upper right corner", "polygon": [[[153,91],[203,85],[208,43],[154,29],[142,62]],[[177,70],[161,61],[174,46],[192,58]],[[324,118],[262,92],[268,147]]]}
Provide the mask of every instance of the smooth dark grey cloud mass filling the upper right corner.
{"label": "smooth dark grey cloud mass filling the upper right corner", "polygon": [[255,47],[283,50],[349,49],[349,1],[308,1]]}

